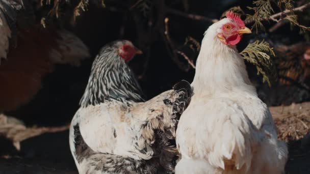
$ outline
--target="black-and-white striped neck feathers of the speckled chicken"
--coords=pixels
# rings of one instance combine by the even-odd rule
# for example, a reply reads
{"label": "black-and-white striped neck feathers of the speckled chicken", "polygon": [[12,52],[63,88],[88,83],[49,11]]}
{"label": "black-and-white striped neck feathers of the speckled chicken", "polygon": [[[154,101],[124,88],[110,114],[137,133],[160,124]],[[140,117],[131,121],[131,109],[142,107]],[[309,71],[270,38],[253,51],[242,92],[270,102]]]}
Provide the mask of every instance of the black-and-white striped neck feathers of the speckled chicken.
{"label": "black-and-white striped neck feathers of the speckled chicken", "polygon": [[106,100],[144,101],[139,83],[125,61],[119,57],[113,43],[102,47],[93,62],[88,84],[80,101],[82,107]]}

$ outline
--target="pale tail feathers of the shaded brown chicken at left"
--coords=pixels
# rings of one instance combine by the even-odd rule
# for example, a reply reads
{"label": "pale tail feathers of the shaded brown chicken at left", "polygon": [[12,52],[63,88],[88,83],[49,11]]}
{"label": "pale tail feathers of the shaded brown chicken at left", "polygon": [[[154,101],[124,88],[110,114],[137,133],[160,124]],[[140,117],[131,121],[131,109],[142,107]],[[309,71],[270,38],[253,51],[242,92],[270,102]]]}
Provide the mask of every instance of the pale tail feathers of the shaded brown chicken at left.
{"label": "pale tail feathers of the shaded brown chicken at left", "polygon": [[57,48],[50,50],[50,60],[55,64],[80,66],[81,61],[90,57],[83,41],[66,30],[57,31]]}

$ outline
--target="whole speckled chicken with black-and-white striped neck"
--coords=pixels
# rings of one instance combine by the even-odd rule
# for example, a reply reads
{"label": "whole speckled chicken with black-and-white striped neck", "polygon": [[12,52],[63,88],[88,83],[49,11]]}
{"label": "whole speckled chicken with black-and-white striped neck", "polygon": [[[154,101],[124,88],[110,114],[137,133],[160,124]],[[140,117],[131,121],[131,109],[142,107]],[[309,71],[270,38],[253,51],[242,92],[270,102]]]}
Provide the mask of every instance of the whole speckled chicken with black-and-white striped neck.
{"label": "whole speckled chicken with black-and-white striped neck", "polygon": [[96,56],[81,107],[70,127],[70,149],[80,173],[173,173],[177,151],[170,143],[189,103],[191,86],[144,101],[126,62],[139,53],[115,41]]}

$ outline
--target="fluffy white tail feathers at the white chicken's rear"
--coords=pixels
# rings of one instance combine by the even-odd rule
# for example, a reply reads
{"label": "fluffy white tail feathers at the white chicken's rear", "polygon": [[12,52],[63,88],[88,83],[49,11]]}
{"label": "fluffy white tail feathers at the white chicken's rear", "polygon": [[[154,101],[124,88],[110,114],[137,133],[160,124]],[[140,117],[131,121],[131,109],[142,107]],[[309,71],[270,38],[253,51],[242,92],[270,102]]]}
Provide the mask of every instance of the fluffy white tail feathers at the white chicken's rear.
{"label": "fluffy white tail feathers at the white chicken's rear", "polygon": [[[229,111],[230,112],[227,112]],[[241,108],[233,106],[219,113],[212,134],[213,151],[208,155],[210,164],[228,170],[245,170],[251,166],[252,146],[256,141],[255,128]]]}

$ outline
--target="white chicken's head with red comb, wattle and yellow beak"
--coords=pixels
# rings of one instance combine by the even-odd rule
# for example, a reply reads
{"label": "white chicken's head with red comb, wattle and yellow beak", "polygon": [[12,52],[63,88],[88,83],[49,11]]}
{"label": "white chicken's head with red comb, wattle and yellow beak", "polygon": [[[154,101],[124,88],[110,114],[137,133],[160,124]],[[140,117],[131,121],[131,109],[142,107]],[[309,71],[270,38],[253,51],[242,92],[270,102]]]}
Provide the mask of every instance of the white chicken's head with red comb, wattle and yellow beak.
{"label": "white chicken's head with red comb, wattle and yellow beak", "polygon": [[226,17],[213,24],[217,27],[217,37],[225,45],[236,45],[241,41],[242,35],[250,34],[251,30],[233,11],[227,12]]}

